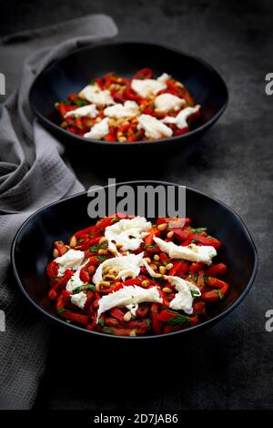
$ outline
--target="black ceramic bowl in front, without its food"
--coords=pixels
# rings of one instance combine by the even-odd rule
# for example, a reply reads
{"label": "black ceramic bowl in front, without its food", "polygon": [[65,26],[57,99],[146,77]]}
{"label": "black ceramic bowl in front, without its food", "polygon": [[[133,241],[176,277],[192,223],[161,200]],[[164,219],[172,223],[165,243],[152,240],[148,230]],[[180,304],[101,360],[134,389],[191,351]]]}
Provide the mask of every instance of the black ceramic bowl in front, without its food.
{"label": "black ceramic bowl in front, without its food", "polygon": [[[116,189],[122,184],[124,183],[116,184]],[[166,189],[167,185],[171,183],[136,181],[126,184],[131,185],[134,189],[139,185],[149,184],[156,187],[161,184]],[[174,186],[177,187],[177,185]],[[107,195],[109,188],[105,189]],[[85,228],[96,221],[91,220],[87,215],[89,202],[90,198],[84,192],[39,209],[25,221],[15,236],[11,250],[15,279],[26,299],[49,320],[56,321],[59,325],[64,325],[74,331],[83,331],[86,334],[106,338],[158,339],[163,336],[187,334],[208,327],[233,311],[238,303],[246,297],[258,269],[258,255],[248,229],[238,215],[225,204],[200,191],[187,188],[187,217],[193,219],[193,223],[198,227],[206,226],[212,235],[223,242],[217,258],[226,263],[228,267],[226,279],[230,282],[231,287],[227,299],[213,305],[212,310],[207,314],[207,319],[196,326],[159,336],[117,337],[67,324],[56,315],[54,305],[47,298],[48,278],[45,275],[45,268],[49,260],[52,260],[55,240],[66,241],[76,230]],[[67,215],[67,213],[76,213],[76,215]]]}

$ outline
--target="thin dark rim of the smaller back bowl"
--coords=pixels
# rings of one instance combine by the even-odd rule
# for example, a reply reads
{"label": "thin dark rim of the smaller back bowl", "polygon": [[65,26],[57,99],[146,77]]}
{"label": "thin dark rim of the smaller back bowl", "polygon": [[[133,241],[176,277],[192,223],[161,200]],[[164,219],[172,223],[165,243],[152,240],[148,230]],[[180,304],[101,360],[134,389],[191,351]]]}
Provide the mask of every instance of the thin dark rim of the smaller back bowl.
{"label": "thin dark rim of the smaller back bowl", "polygon": [[[34,97],[35,97],[35,87],[38,85],[39,80],[45,75],[45,73],[48,71],[48,69],[52,66],[56,66],[57,63],[63,61],[64,59],[66,59],[69,56],[73,56],[74,54],[76,54],[77,52],[81,52],[84,50],[88,50],[88,49],[93,49],[96,47],[103,47],[103,46],[121,46],[121,45],[142,45],[142,46],[157,46],[163,49],[166,49],[168,51],[172,51],[174,53],[177,53],[181,56],[186,56],[188,58],[191,58],[195,61],[197,61],[197,63],[202,64],[202,66],[205,66],[210,73],[212,73],[212,75],[214,75],[214,77],[217,77],[218,81],[220,82],[220,84],[223,87],[223,94],[225,96],[225,101],[222,105],[222,107],[220,107],[217,111],[217,113],[213,116],[210,117],[209,120],[207,120],[206,123],[204,123],[203,125],[200,125],[199,127],[195,128],[195,129],[191,129],[189,130],[187,133],[182,134],[181,136],[174,136],[174,137],[170,137],[170,138],[161,138],[161,139],[155,139],[155,140],[147,140],[147,141],[131,141],[131,142],[120,142],[120,141],[102,141],[99,139],[94,139],[94,138],[83,138],[80,136],[77,136],[76,134],[72,134],[71,132],[66,131],[66,129],[63,129],[62,127],[56,125],[54,122],[52,122],[52,120],[48,119],[47,117],[45,117],[45,115],[43,115],[42,113],[39,112],[38,108],[35,107],[35,101],[34,101]],[[217,71],[217,69],[214,66],[211,66],[210,64],[207,63],[207,61],[203,58],[200,58],[199,56],[195,56],[195,55],[191,55],[188,54],[187,52],[184,52],[180,49],[177,49],[177,47],[173,47],[173,46],[169,46],[167,44],[163,44],[163,43],[157,43],[157,42],[144,42],[143,40],[119,40],[119,41],[108,41],[108,42],[101,42],[101,43],[96,43],[96,44],[88,44],[86,46],[81,46],[81,47],[76,47],[75,49],[69,51],[68,53],[59,56],[57,59],[53,60],[52,62],[50,62],[47,66],[45,66],[44,70],[42,70],[37,76],[35,76],[35,80],[32,83],[30,90],[29,90],[29,103],[30,106],[32,107],[35,116],[38,117],[41,122],[46,125],[48,128],[51,128],[52,130],[54,129],[56,132],[59,132],[60,134],[63,134],[63,136],[66,138],[69,138],[70,140],[77,140],[80,142],[80,144],[85,144],[85,145],[89,145],[89,144],[96,144],[97,146],[118,146],[118,147],[128,147],[128,146],[139,146],[139,145],[153,145],[153,144],[164,144],[167,142],[171,142],[171,143],[177,143],[181,140],[187,139],[187,138],[191,138],[194,137],[195,135],[205,131],[207,129],[207,127],[210,127],[211,125],[213,125],[217,119],[219,117],[221,117],[223,115],[223,113],[225,112],[226,108],[227,108],[227,104],[228,104],[228,89],[227,89],[227,84],[225,82],[225,80],[223,79],[223,77],[220,75],[220,73]],[[202,106],[201,106],[202,108]]]}

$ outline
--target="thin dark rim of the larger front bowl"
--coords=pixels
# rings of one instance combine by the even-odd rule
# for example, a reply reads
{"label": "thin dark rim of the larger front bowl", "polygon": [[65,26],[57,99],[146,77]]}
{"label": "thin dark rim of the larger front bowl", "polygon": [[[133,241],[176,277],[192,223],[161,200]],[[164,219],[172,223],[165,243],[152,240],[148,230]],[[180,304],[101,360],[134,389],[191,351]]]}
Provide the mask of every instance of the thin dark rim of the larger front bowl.
{"label": "thin dark rim of the larger front bowl", "polygon": [[[102,186],[103,189],[108,189],[109,187],[113,187],[113,186],[122,186],[122,185],[128,185],[128,184],[132,184],[132,183],[139,183],[139,184],[154,184],[154,185],[165,185],[165,186],[184,186],[178,183],[172,183],[172,182],[168,182],[168,181],[157,181],[157,180],[136,180],[136,181],[123,181],[120,183],[116,183],[116,184],[112,184],[112,185],[106,185],[106,186]],[[238,216],[237,212],[234,209],[231,209],[230,207],[227,206],[227,204],[225,204],[224,202],[222,202],[221,200],[213,197],[212,195],[207,194],[206,192],[203,192],[202,190],[198,190],[189,186],[186,186],[186,190],[190,190],[194,193],[197,193],[198,195],[201,195],[202,197],[205,197],[206,199],[212,199],[214,202],[217,202],[217,204],[222,205],[225,209],[227,209],[227,211],[230,211],[230,213],[235,216],[238,221],[240,222],[242,228],[244,229],[245,234],[248,237],[249,240],[249,244],[251,245],[251,248],[253,250],[254,253],[254,264],[253,264],[253,268],[252,268],[252,273],[251,273],[251,277],[248,280],[248,284],[245,288],[245,290],[243,290],[243,292],[239,295],[238,299],[236,301],[234,301],[230,306],[227,307],[227,309],[225,311],[222,311],[220,313],[218,313],[216,316],[212,317],[210,320],[206,320],[203,322],[200,322],[194,326],[188,327],[185,330],[180,330],[180,331],[173,331],[170,333],[162,333],[162,334],[158,334],[158,335],[147,335],[147,336],[135,336],[135,337],[131,337],[131,336],[116,336],[116,335],[110,335],[110,334],[106,334],[103,332],[99,332],[99,331],[89,331],[86,330],[82,327],[79,327],[75,324],[68,324],[66,321],[62,320],[61,318],[57,318],[56,315],[51,314],[48,311],[45,311],[44,308],[42,308],[38,303],[36,303],[33,298],[31,297],[31,295],[28,293],[28,291],[25,289],[25,286],[23,284],[23,282],[20,280],[19,274],[17,272],[16,269],[16,263],[15,263],[15,248],[16,248],[16,244],[17,244],[17,239],[20,237],[20,235],[22,234],[22,232],[25,229],[25,226],[32,220],[35,218],[35,216],[37,216],[40,212],[42,212],[45,209],[50,209],[52,206],[55,206],[59,203],[63,203],[66,202],[69,199],[75,199],[76,197],[80,197],[82,195],[87,195],[87,190],[76,193],[74,195],[71,195],[67,198],[64,199],[60,199],[57,200],[55,202],[51,202],[50,204],[45,205],[45,207],[42,207],[40,209],[37,209],[33,214],[31,214],[31,216],[29,216],[27,219],[25,219],[24,223],[20,226],[20,228],[17,230],[16,234],[15,234],[15,238],[13,239],[13,243],[12,243],[12,247],[11,247],[11,251],[10,251],[10,256],[11,256],[11,266],[12,266],[12,270],[15,276],[15,280],[19,286],[19,289],[22,291],[22,293],[25,295],[25,298],[27,299],[27,301],[29,301],[37,311],[41,312],[45,318],[48,318],[50,321],[55,322],[57,325],[61,325],[61,326],[65,326],[68,329],[72,329],[72,331],[80,331],[82,333],[86,333],[86,334],[94,334],[97,337],[101,337],[101,338],[110,338],[110,339],[120,339],[120,340],[150,340],[150,339],[162,339],[162,338],[166,338],[166,337],[173,337],[177,334],[187,334],[191,331],[198,331],[201,330],[202,328],[205,328],[206,326],[209,325],[213,325],[215,322],[222,320],[224,317],[226,317],[231,311],[233,311],[238,305],[239,303],[241,303],[245,297],[248,294],[248,291],[251,289],[253,282],[256,278],[257,275],[257,271],[258,271],[258,250],[256,248],[256,245],[248,231],[248,228],[245,224],[245,222]]]}

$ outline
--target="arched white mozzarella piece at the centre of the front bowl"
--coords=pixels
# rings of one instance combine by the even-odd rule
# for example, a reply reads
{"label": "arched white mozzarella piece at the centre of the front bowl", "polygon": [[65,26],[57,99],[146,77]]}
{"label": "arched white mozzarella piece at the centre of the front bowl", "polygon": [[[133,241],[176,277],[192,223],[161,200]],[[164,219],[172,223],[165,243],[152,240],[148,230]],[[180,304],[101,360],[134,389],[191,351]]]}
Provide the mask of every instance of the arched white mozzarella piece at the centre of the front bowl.
{"label": "arched white mozzarella piece at the centre of the front bowl", "polygon": [[98,284],[103,278],[103,271],[107,266],[111,266],[111,268],[115,268],[118,271],[116,276],[117,279],[121,278],[125,280],[127,277],[136,278],[140,272],[140,267],[144,265],[143,260],[144,253],[140,254],[128,254],[127,256],[117,256],[112,259],[107,259],[103,261],[93,276],[93,282]]}

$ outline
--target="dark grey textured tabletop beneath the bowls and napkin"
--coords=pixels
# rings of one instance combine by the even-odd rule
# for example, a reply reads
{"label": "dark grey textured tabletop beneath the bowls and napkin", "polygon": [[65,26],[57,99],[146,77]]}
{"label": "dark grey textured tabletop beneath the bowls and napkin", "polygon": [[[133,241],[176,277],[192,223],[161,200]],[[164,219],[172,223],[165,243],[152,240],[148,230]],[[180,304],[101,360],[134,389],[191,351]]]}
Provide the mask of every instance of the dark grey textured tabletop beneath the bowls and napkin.
{"label": "dark grey textured tabletop beneath the bowls and napkin", "polygon": [[[227,82],[224,117],[180,153],[141,154],[129,168],[106,154],[73,155],[78,177],[89,185],[107,177],[157,178],[187,184],[226,202],[246,221],[259,253],[254,287],[226,320],[199,337],[169,346],[129,350],[83,342],[55,331],[37,408],[264,408],[273,409],[272,108],[265,75],[272,72],[269,1],[6,2],[1,33],[47,25],[76,15],[105,12],[118,38],[156,40],[202,56]],[[75,12],[76,10],[76,12]],[[95,165],[96,163],[96,165]],[[131,364],[126,364],[130,361]],[[81,372],[80,368],[84,369]],[[101,381],[99,386],[97,383]],[[138,392],[140,388],[141,392]]]}

